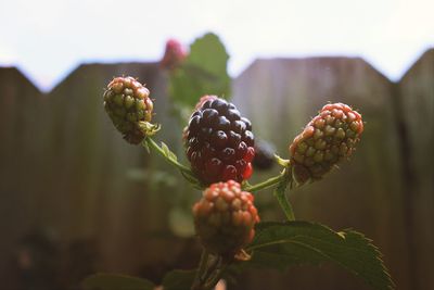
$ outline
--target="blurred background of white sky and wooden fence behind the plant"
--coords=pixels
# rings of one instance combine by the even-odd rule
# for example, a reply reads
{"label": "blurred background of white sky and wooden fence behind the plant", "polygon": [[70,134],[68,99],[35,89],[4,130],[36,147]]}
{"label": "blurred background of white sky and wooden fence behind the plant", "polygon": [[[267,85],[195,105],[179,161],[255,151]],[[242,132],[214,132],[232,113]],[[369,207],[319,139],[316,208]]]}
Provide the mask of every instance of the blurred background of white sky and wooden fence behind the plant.
{"label": "blurred background of white sky and wooden fence behind the plant", "polygon": [[[432,11],[429,0],[1,1],[0,288],[80,289],[95,272],[158,283],[196,265],[200,192],[122,139],[102,93],[117,75],[146,83],[156,140],[183,157],[186,119],[159,61],[167,39],[188,48],[213,31],[230,55],[227,98],[280,155],[328,101],[362,113],[352,161],[290,193],[296,217],[365,232],[397,289],[434,289]],[[284,219],[270,192],[256,199],[263,220]],[[230,286],[288,288],[368,289],[329,264]]]}

